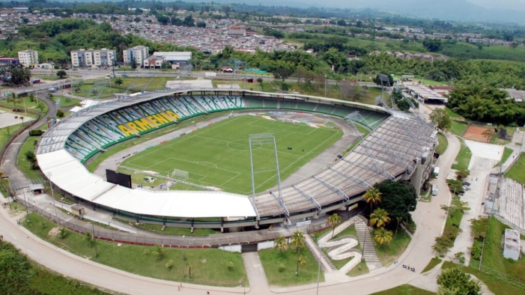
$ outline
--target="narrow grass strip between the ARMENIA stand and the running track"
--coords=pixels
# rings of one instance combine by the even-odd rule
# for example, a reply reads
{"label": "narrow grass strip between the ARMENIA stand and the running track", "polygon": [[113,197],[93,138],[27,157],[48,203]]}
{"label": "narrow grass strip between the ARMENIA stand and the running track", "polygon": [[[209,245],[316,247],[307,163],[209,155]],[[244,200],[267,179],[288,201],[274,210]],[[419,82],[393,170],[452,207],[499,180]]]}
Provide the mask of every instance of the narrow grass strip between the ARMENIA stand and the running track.
{"label": "narrow grass strip between the ARMENIA stand and the running track", "polygon": [[101,155],[99,155],[98,157],[93,159],[92,161],[90,160],[88,162],[89,164],[87,164],[88,170],[89,170],[89,172],[94,172],[97,169],[97,166],[100,163],[102,163],[104,160],[108,159],[108,157],[110,157],[110,156],[112,156],[112,155],[114,155],[114,154],[116,154],[116,153],[118,153],[120,151],[123,151],[125,149],[129,149],[132,146],[134,146],[135,144],[140,144],[140,143],[152,140],[154,138],[158,138],[159,136],[161,136],[163,134],[173,132],[173,131],[175,131],[177,129],[181,129],[181,128],[187,127],[188,125],[192,125],[192,124],[195,124],[195,123],[203,121],[203,120],[208,120],[208,119],[212,119],[212,118],[215,118],[215,117],[219,117],[220,115],[223,115],[223,114],[224,114],[224,112],[216,112],[216,113],[213,113],[213,114],[201,115],[199,117],[192,118],[191,120],[186,120],[186,121],[183,121],[183,122],[178,123],[178,124],[173,124],[173,125],[171,125],[169,127],[166,127],[166,128],[162,128],[162,129],[159,129],[159,130],[155,130],[155,131],[146,133],[144,135],[141,135],[140,138],[132,138],[132,139],[127,140],[127,141],[125,141],[125,142],[123,142],[121,144],[112,146],[111,149],[108,150],[107,152],[102,153]]}

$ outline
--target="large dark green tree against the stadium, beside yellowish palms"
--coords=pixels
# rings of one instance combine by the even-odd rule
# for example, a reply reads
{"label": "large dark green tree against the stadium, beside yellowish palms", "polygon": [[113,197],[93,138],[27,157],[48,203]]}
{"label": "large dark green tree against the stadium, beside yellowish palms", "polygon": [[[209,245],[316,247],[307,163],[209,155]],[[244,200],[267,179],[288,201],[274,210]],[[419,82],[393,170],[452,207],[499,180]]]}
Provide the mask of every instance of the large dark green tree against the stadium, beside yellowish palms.
{"label": "large dark green tree against the stadium, beside yellowish palms", "polygon": [[410,212],[414,211],[417,205],[417,194],[412,185],[387,180],[376,184],[375,188],[382,194],[381,208],[388,212],[388,217],[399,217],[411,222]]}

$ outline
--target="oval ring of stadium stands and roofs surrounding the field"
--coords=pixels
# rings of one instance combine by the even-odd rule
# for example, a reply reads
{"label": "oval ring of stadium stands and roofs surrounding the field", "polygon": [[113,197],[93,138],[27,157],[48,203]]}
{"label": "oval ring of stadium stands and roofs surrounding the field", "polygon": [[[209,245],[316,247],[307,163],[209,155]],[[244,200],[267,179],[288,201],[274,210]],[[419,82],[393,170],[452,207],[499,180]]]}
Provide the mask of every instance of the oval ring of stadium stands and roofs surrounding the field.
{"label": "oval ring of stadium stands and roofs surrounding the field", "polygon": [[[328,114],[363,124],[371,132],[328,168],[280,193],[132,189],[109,183],[83,165],[112,145],[198,115],[261,109]],[[385,180],[411,183],[419,191],[431,172],[436,133],[415,115],[367,104],[300,94],[192,89],[122,96],[83,109],[49,129],[36,154],[50,182],[93,209],[171,226],[259,228],[349,209],[362,201],[367,189]]]}

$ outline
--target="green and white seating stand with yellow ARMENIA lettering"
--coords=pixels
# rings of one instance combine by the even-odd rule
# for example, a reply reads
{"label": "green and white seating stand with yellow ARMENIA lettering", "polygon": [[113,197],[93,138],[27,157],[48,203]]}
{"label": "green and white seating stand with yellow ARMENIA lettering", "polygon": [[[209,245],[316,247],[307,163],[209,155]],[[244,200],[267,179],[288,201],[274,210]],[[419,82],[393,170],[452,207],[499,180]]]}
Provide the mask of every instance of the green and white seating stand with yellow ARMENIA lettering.
{"label": "green and white seating stand with yellow ARMENIA lettering", "polygon": [[[238,96],[164,97],[127,108],[114,110],[83,124],[65,144],[65,149],[80,162],[118,142],[165,127],[196,115],[244,108],[317,111],[345,117],[357,109],[299,100],[242,98]],[[385,114],[359,110],[374,128],[386,118]],[[362,121],[362,120],[361,120]]]}

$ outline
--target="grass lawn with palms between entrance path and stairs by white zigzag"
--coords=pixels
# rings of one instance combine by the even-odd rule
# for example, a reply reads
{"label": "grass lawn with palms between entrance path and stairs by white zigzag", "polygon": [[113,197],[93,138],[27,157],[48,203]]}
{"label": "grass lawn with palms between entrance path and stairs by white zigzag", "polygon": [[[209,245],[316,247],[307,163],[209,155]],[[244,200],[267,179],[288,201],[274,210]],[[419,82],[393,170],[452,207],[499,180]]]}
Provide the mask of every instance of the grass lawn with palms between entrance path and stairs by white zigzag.
{"label": "grass lawn with palms between entrance path and stairs by white zigzag", "polygon": [[[295,286],[317,282],[318,264],[306,247],[301,247],[300,255],[306,260],[306,265],[299,266],[299,275],[296,276],[297,251],[292,247],[282,252],[278,249],[259,251],[259,257],[264,267],[266,279],[271,286]],[[280,266],[282,267],[281,269]],[[324,275],[321,271],[321,282]]]}

